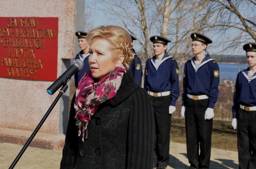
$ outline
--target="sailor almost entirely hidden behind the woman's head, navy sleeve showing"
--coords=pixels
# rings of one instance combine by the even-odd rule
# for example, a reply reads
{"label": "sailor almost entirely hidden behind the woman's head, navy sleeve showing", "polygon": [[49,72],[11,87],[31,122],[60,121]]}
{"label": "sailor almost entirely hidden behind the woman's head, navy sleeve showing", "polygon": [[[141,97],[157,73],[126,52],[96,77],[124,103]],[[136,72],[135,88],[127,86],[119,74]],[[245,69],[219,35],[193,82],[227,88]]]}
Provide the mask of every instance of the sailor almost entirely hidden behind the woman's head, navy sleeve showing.
{"label": "sailor almost entirely hidden behind the woman's head, navy sleeve showing", "polygon": [[[137,40],[134,36],[131,35],[132,42]],[[135,82],[141,86],[141,78],[142,78],[142,67],[141,67],[141,59],[136,55],[135,50],[132,49],[134,59],[130,63],[130,69],[128,71],[132,72]]]}

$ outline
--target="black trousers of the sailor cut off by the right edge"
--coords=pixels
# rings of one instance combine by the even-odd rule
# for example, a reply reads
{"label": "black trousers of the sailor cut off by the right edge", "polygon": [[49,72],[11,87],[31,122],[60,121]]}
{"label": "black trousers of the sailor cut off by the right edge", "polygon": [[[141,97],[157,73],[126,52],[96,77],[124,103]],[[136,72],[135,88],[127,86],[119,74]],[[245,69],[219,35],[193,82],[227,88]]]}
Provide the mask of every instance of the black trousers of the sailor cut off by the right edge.
{"label": "black trousers of the sailor cut off by the right edge", "polygon": [[256,111],[239,109],[237,119],[239,169],[256,169]]}

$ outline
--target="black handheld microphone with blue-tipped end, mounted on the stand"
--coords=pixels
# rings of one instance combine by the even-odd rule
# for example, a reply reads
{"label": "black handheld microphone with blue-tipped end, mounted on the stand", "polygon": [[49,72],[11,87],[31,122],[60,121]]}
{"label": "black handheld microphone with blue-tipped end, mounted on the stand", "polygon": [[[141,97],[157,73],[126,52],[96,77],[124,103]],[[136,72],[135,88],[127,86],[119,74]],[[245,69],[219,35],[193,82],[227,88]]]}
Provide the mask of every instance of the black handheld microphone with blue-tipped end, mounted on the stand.
{"label": "black handheld microphone with blue-tipped end, mounted on the stand", "polygon": [[61,86],[67,84],[67,82],[71,79],[71,77],[81,70],[84,66],[83,61],[80,59],[75,60],[72,65],[56,80],[54,83],[47,88],[48,94],[54,94]]}

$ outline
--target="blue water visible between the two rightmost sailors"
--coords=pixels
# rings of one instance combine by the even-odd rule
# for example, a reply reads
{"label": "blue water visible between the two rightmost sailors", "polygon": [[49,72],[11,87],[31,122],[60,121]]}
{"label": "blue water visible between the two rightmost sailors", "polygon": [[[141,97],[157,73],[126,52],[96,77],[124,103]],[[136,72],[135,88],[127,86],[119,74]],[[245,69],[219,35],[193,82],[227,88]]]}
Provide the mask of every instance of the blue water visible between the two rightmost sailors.
{"label": "blue water visible between the two rightmost sailors", "polygon": [[218,63],[220,69],[220,80],[232,80],[236,82],[239,71],[248,68],[247,64],[222,64]]}

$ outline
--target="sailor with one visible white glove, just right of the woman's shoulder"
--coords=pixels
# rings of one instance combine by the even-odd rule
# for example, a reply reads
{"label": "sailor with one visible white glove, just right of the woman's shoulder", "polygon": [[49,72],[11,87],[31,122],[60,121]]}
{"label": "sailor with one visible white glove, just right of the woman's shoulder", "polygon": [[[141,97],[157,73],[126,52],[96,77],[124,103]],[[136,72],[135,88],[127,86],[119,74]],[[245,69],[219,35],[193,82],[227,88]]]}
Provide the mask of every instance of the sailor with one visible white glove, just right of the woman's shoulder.
{"label": "sailor with one visible white glove, just right of the woman's shoulder", "polygon": [[155,56],[148,59],[145,67],[144,88],[150,95],[155,112],[154,166],[165,169],[169,163],[171,114],[179,98],[179,72],[175,58],[166,53],[167,38],[152,36]]}

